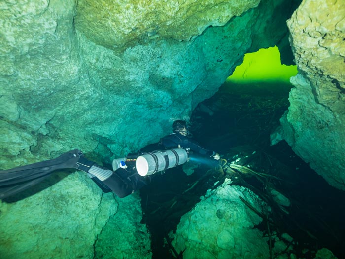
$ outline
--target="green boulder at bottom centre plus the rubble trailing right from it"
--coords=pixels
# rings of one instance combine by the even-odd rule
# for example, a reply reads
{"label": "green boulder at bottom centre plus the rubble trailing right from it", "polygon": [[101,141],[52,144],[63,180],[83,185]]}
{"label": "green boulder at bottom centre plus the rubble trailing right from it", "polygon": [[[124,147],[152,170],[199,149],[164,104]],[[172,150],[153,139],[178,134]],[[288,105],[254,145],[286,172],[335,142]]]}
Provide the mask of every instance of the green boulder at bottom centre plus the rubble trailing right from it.
{"label": "green boulder at bottom centre plus the rubble trailing right from it", "polygon": [[[227,179],[216,189],[207,190],[181,217],[176,232],[170,233],[175,253],[184,259],[304,258],[294,254],[291,244],[296,241],[290,235],[258,227],[266,217],[271,221],[269,205],[251,190],[230,183]],[[336,259],[326,248],[303,251],[311,252],[309,257],[313,254],[315,259]]]}

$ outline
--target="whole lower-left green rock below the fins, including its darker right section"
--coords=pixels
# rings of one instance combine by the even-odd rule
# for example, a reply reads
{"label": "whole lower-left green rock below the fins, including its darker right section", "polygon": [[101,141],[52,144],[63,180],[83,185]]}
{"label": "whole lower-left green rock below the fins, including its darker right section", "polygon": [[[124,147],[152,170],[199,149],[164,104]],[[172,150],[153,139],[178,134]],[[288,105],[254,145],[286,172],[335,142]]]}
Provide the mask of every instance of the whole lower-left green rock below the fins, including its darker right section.
{"label": "whole lower-left green rock below the fins, including its darker right section", "polygon": [[137,197],[102,193],[84,173],[50,179],[61,181],[15,203],[0,201],[0,258],[151,258]]}

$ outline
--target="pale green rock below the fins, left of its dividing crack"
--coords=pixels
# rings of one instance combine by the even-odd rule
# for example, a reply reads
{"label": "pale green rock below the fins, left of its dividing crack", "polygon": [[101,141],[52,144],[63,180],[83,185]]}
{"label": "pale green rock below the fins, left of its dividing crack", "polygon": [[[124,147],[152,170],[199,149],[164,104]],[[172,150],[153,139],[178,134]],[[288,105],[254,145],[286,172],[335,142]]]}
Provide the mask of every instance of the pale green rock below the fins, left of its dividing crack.
{"label": "pale green rock below the fins, left of its dividing crack", "polygon": [[93,257],[94,240],[118,205],[111,193],[88,185],[86,174],[64,177],[26,199],[0,203],[1,258]]}

